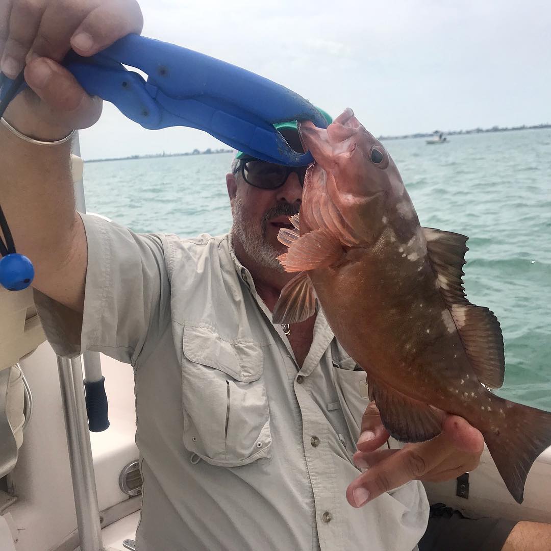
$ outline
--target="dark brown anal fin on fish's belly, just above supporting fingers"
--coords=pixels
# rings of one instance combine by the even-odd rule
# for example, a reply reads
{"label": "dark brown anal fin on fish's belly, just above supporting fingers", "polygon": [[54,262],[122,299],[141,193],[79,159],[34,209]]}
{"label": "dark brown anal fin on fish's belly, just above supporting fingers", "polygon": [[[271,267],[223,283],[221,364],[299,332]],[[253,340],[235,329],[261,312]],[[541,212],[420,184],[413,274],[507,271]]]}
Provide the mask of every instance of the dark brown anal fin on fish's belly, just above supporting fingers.
{"label": "dark brown anal fin on fish's belly, just above supporting fingers", "polygon": [[441,433],[443,412],[439,409],[404,396],[379,381],[370,380],[369,386],[382,424],[396,440],[424,442]]}

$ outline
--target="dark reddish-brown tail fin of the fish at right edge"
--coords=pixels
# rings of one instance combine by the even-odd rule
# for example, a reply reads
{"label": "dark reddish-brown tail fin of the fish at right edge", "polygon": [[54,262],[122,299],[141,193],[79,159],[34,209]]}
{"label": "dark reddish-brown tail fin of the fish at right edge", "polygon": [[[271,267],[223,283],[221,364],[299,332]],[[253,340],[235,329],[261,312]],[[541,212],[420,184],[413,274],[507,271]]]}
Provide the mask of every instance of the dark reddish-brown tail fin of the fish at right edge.
{"label": "dark reddish-brown tail fin of the fish at right edge", "polygon": [[551,446],[551,413],[495,395],[492,402],[498,408],[482,434],[507,489],[522,503],[532,463]]}

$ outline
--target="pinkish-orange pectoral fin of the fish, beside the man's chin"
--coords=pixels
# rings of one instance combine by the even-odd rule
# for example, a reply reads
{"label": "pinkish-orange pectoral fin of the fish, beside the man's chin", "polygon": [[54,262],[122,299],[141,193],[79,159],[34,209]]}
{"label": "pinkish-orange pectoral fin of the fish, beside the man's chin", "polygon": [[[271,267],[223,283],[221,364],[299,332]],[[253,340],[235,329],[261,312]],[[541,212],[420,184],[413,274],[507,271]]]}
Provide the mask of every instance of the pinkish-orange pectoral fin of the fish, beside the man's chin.
{"label": "pinkish-orange pectoral fin of the fish, beside the man's chin", "polygon": [[[279,230],[279,233],[281,232],[282,230]],[[340,260],[343,254],[341,242],[337,237],[326,230],[313,230],[301,235],[291,244],[287,253],[278,256],[278,260],[287,272],[302,272],[331,266]]]}

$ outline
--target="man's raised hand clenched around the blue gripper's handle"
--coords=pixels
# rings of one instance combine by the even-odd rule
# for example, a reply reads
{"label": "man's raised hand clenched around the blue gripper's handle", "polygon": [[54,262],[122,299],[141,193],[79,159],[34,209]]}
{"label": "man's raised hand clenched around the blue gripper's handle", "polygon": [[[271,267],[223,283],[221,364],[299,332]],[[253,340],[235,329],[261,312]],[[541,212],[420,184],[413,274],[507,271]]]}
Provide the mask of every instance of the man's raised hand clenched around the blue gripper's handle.
{"label": "man's raised hand clenched around the blue gripper's handle", "polygon": [[142,26],[136,0],[0,0],[0,68],[15,78],[26,63],[29,85],[6,120],[46,140],[93,125],[101,100],[90,98],[60,62],[71,48],[91,56]]}

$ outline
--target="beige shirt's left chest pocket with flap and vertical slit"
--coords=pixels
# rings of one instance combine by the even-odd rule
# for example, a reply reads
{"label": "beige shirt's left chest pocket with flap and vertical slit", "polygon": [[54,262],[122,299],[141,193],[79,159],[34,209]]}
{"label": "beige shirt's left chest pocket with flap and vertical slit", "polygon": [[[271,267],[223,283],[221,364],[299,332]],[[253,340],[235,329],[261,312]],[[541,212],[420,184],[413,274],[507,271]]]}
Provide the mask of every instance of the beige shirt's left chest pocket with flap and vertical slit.
{"label": "beige shirt's left chest pocket with flap and vertical slit", "polygon": [[272,436],[262,349],[206,327],[183,331],[183,444],[208,463],[236,467],[269,457]]}

